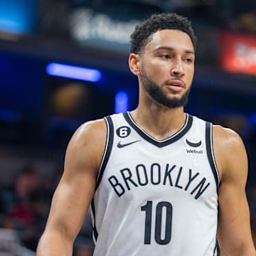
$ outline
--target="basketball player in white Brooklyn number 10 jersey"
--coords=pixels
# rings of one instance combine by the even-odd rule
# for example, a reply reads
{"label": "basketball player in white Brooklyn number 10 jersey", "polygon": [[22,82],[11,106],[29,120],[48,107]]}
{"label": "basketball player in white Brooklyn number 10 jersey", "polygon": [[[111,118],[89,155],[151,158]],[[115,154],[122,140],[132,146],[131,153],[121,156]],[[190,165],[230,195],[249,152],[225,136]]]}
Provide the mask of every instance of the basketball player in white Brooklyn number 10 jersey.
{"label": "basketball player in white Brooklyn number 10 jersey", "polygon": [[183,112],[196,37],[187,18],[132,33],[136,110],[82,124],[65,156],[37,255],[72,255],[90,206],[95,256],[252,256],[247,156],[230,129]]}

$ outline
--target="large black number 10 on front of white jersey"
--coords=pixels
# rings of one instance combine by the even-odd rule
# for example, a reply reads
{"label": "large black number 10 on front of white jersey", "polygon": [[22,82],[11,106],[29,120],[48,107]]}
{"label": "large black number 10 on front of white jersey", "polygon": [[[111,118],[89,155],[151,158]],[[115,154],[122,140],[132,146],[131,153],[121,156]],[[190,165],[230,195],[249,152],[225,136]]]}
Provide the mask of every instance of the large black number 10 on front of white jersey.
{"label": "large black number 10 on front of white jersey", "polygon": [[[173,215],[173,208],[171,203],[161,201],[157,203],[156,208],[153,208],[153,202],[147,201],[146,205],[142,206],[142,211],[145,211],[145,233],[144,233],[144,244],[151,244],[151,227],[155,227],[154,239],[159,245],[166,245],[171,241],[171,222]],[[152,220],[152,211],[156,211],[156,218]],[[166,216],[163,215],[164,211]],[[164,218],[165,217],[165,218]],[[165,225],[163,220],[165,219]],[[164,230],[162,230],[164,228]]]}

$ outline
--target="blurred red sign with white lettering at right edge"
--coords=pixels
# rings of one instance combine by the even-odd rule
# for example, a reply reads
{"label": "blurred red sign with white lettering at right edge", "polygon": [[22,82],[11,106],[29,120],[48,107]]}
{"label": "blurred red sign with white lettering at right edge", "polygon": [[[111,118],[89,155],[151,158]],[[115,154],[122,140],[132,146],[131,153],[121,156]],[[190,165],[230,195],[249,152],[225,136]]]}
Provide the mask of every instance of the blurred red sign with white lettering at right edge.
{"label": "blurred red sign with white lettering at right edge", "polygon": [[256,75],[256,36],[221,32],[219,63],[230,72]]}

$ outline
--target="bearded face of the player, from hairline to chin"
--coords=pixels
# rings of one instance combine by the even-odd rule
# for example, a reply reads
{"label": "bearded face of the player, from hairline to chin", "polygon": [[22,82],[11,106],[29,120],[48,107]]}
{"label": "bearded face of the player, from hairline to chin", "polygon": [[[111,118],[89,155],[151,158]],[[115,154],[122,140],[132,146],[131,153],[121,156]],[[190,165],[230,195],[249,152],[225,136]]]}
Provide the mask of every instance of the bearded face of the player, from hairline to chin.
{"label": "bearded face of the player, from hairline to chin", "polygon": [[191,39],[177,30],[157,31],[140,58],[142,87],[166,107],[183,107],[188,101],[195,54]]}

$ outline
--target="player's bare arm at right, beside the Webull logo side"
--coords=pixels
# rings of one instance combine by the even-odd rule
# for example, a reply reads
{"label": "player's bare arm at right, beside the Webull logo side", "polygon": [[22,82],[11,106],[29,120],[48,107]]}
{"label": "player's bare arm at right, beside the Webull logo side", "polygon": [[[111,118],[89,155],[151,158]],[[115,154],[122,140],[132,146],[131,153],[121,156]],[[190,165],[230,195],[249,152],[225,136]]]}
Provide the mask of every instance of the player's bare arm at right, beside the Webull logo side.
{"label": "player's bare arm at right, beside the Webull logo side", "polygon": [[214,127],[213,146],[220,171],[218,243],[221,256],[256,256],[245,194],[247,154],[239,135]]}

